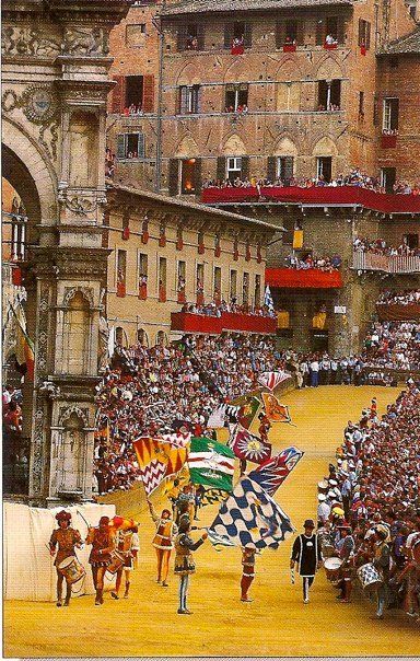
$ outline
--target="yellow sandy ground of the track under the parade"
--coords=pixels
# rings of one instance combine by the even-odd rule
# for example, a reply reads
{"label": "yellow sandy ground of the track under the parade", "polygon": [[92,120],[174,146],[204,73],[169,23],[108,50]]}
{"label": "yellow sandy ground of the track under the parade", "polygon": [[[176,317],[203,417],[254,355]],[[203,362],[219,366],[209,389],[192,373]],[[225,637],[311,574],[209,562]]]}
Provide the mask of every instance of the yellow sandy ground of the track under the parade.
{"label": "yellow sandy ground of the track under the parade", "polygon": [[[305,451],[304,459],[277,491],[276,498],[301,532],[306,517],[314,517],[316,483],[339,444],[348,419],[376,395],[380,410],[397,390],[329,386],[290,393],[296,428],[277,425],[271,441],[277,449],[291,443]],[[140,502],[141,500],[141,502]],[[74,599],[70,608],[50,603],[4,603],[4,654],[8,657],[141,657],[141,656],[417,656],[419,626],[404,614],[388,612],[376,621],[374,604],[360,594],[353,603],[336,602],[336,591],[317,575],[311,603],[304,605],[301,581],[290,582],[292,540],[279,550],[257,557],[257,576],[250,589],[254,602],[240,601],[241,552],[217,553],[206,542],[196,553],[197,573],[191,578],[189,607],[194,615],[177,615],[177,582],[155,583],[151,547],[153,525],[141,490],[114,497],[120,513],[136,513],[141,522],[140,568],[132,576],[129,600],[105,595],[102,607],[92,596]],[[159,502],[156,502],[159,505]],[[210,523],[217,507],[200,512],[198,525]],[[199,532],[192,533],[198,536]]]}

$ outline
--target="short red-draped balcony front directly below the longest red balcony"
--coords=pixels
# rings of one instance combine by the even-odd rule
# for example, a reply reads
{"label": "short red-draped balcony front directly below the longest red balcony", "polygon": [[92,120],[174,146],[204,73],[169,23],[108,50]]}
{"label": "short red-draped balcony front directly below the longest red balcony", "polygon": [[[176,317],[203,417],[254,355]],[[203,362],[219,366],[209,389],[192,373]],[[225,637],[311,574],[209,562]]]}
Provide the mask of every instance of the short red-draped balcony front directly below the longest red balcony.
{"label": "short red-draped balcony front directly below the longest red balcony", "polygon": [[281,289],[339,289],[341,274],[319,268],[266,268],[266,285]]}

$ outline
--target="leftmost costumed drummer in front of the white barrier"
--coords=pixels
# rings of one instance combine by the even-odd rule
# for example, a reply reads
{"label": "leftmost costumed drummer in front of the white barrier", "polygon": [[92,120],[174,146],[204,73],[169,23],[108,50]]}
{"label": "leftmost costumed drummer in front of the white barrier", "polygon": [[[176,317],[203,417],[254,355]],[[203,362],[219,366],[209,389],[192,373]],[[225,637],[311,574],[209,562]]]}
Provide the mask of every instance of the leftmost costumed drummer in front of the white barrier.
{"label": "leftmost costumed drummer in front of the white barrier", "polygon": [[[57,549],[56,559],[54,560],[54,565],[57,570],[57,606],[62,606],[62,581],[65,580],[65,575],[60,571],[59,566],[66,558],[75,556],[74,548],[82,547],[82,537],[80,536],[80,532],[78,530],[74,530],[70,526],[70,512],[61,510],[56,514],[56,519],[58,522],[58,529],[52,531],[49,540],[49,553],[51,556],[54,556]],[[71,598],[71,583],[69,583],[67,577],[66,584],[67,591],[65,606],[68,606]]]}

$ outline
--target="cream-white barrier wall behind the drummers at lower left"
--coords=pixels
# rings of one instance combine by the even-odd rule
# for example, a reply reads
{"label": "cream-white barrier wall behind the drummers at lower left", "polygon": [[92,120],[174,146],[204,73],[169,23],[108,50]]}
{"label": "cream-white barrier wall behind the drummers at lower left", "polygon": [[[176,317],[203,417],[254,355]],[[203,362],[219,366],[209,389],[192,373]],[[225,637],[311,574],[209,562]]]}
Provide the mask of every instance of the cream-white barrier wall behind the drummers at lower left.
{"label": "cream-white barrier wall behind the drummers at lower left", "polygon": [[[26,601],[56,601],[57,572],[54,558],[47,548],[57,521],[57,512],[66,509],[71,513],[72,527],[80,531],[82,540],[88,526],[79,512],[91,525],[97,525],[103,515],[114,517],[114,505],[80,505],[51,510],[33,508],[15,502],[3,503],[3,589],[4,599]],[[88,563],[91,546],[78,550],[78,558],[86,569],[84,585],[73,585],[74,593],[93,594],[92,575]],[[66,588],[63,588],[66,591]]]}

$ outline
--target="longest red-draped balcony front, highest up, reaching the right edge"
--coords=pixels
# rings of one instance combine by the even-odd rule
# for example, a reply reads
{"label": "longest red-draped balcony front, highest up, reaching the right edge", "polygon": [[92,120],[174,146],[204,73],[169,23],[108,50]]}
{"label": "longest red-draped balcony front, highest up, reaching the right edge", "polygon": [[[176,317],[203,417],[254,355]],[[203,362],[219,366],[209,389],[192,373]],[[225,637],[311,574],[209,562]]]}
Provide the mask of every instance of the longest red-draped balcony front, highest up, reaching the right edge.
{"label": "longest red-draped balcony front, highest up, reaching the right edge", "polygon": [[225,205],[273,201],[308,207],[362,207],[382,213],[420,213],[420,196],[375,193],[359,186],[265,186],[261,188],[205,188],[202,202]]}

